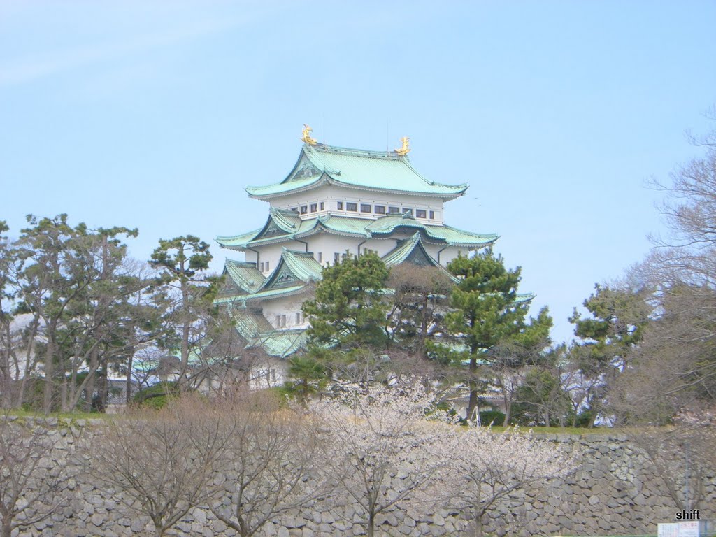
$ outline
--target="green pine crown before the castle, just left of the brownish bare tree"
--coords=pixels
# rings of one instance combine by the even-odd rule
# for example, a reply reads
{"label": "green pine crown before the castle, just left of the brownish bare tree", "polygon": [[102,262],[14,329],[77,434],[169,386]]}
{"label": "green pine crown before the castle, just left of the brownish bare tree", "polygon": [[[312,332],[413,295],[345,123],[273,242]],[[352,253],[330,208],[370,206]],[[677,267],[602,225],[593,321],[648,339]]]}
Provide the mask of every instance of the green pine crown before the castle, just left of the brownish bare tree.
{"label": "green pine crown before the castle, just left of the brownish bare tree", "polygon": [[388,269],[374,252],[328,266],[303,311],[311,321],[309,341],[326,347],[381,347],[387,344],[388,305],[383,299]]}

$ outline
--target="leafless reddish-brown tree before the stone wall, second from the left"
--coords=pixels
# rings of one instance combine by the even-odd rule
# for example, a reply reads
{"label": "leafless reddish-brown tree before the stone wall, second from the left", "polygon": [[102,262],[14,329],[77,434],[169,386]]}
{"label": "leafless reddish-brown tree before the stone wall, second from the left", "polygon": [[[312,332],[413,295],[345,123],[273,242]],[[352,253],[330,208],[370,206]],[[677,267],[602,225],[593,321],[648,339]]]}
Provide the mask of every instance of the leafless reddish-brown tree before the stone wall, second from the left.
{"label": "leafless reddish-brown tree before the stone wall, second from the left", "polygon": [[228,460],[223,425],[216,407],[188,395],[158,412],[118,417],[97,433],[91,471],[163,536],[221,490],[214,478]]}

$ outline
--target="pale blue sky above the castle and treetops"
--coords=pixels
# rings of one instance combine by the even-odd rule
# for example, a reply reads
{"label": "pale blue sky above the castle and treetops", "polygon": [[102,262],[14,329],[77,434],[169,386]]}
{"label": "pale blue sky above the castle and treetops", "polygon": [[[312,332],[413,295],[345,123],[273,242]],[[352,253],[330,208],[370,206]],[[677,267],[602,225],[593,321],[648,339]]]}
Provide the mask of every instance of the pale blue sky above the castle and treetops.
{"label": "pale blue sky above the castle and treetops", "polygon": [[[246,185],[301,127],[469,183],[446,220],[496,232],[555,317],[662,230],[649,178],[716,103],[714,1],[0,1],[0,220],[209,241],[261,226]],[[225,252],[213,249],[215,269]]]}

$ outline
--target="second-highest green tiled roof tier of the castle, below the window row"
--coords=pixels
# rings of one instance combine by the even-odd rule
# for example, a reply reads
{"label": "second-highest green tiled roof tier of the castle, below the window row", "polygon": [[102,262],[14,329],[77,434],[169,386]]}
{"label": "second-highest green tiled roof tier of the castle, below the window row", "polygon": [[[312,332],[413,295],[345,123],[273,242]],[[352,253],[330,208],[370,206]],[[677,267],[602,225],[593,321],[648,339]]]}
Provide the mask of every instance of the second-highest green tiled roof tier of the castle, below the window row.
{"label": "second-highest green tiled roof tier of the castle, below the window row", "polygon": [[301,221],[296,231],[286,231],[284,234],[266,236],[263,231],[271,228],[271,222],[275,222],[276,226],[279,226],[276,221],[277,213],[281,213],[281,217],[286,218],[284,214],[289,213],[289,211],[271,212],[269,221],[261,230],[244,233],[236,237],[217,237],[216,241],[226,248],[241,250],[266,243],[281,243],[291,241],[294,238],[305,238],[321,230],[339,235],[372,238],[390,236],[397,228],[420,230],[428,241],[455,246],[487,246],[498,239],[498,236],[494,233],[472,233],[451,226],[431,226],[422,223],[407,213],[397,216],[382,216],[375,220],[329,214]]}

